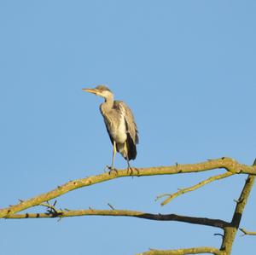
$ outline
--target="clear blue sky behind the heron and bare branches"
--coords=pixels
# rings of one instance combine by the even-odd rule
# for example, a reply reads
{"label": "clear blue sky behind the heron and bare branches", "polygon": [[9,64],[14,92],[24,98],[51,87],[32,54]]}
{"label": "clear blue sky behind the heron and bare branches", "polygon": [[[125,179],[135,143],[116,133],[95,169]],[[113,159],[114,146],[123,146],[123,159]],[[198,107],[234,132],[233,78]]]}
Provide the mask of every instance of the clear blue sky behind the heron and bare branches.
{"label": "clear blue sky behind the heron and bare branches", "polygon": [[[256,157],[256,2],[0,1],[1,207],[96,175],[112,147],[101,98],[108,84],[133,110],[137,167]],[[118,155],[116,166],[124,168]],[[128,177],[58,199],[62,208],[130,209],[230,220],[245,176],[161,207],[154,198],[221,171]],[[241,227],[256,230],[255,188]],[[38,208],[32,212],[44,212]],[[149,247],[219,246],[219,229],[124,217],[1,220],[1,254],[128,255]],[[255,251],[237,236],[234,255]]]}

